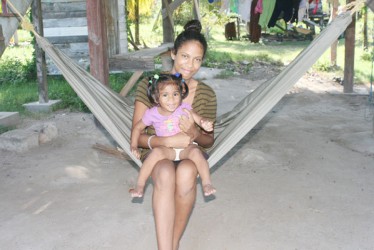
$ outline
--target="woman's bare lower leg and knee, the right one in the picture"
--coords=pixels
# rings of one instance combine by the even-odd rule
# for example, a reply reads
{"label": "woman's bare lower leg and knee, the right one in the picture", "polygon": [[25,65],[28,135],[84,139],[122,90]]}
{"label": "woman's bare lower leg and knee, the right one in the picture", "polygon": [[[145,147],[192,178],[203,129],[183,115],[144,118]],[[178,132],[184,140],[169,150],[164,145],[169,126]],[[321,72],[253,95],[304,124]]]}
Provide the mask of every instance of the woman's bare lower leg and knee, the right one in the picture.
{"label": "woman's bare lower leg and knee, the right one in the picture", "polygon": [[197,169],[191,160],[181,161],[175,177],[175,220],[173,250],[178,250],[179,241],[187,226],[196,199]]}

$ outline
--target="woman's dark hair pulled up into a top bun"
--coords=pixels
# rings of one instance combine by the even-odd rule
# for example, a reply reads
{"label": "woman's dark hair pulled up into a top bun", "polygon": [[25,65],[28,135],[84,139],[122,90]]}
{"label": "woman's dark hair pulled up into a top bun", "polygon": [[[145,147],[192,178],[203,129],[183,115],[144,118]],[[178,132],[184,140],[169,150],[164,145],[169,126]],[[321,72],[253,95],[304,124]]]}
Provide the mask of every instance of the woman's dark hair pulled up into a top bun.
{"label": "woman's dark hair pulled up into a top bun", "polygon": [[182,31],[174,41],[174,54],[177,54],[178,49],[188,41],[198,41],[203,46],[203,57],[208,49],[205,36],[201,34],[201,23],[199,20],[190,20],[184,25]]}

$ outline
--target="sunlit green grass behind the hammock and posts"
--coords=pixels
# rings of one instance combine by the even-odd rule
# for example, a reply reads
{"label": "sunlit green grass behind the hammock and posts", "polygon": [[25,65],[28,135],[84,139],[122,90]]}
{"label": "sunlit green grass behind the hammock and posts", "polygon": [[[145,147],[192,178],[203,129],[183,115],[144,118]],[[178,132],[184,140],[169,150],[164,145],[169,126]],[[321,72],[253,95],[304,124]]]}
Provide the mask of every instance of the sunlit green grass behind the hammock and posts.
{"label": "sunlit green grass behind the hammock and posts", "polygon": [[[147,46],[157,46],[160,43],[159,30],[152,31],[153,23],[142,25],[140,40]],[[147,30],[149,32],[143,32]],[[359,29],[357,29],[359,33]],[[373,31],[371,31],[372,33]],[[245,34],[241,30],[241,34]],[[144,34],[144,37],[142,37]],[[154,34],[155,36],[149,36]],[[369,32],[370,34],[370,32]],[[0,110],[18,111],[21,114],[27,114],[22,104],[38,101],[38,85],[35,79],[35,68],[31,62],[33,46],[31,45],[31,36],[26,31],[19,31],[19,46],[10,46],[0,59]],[[359,37],[359,34],[357,35]],[[357,38],[356,37],[356,38]],[[151,39],[152,38],[152,39]],[[204,61],[204,66],[226,69],[222,77],[233,74],[235,68],[231,66],[243,65],[249,71],[256,62],[266,62],[273,65],[286,65],[291,62],[304,48],[308,46],[309,41],[296,42],[270,42],[270,43],[250,43],[248,40],[227,41],[224,37],[224,28],[214,27],[209,34],[209,51]],[[357,39],[355,56],[355,83],[369,83],[371,73],[371,60],[373,52],[367,52],[362,49],[362,41]],[[373,44],[373,41],[370,41]],[[329,72],[343,77],[344,72],[344,39],[339,40],[338,45],[338,67],[331,67],[329,63],[330,50],[327,50],[323,56],[314,64],[313,70]],[[152,74],[148,72],[147,74]],[[110,87],[119,92],[124,83],[130,78],[130,73],[112,74],[110,76]],[[62,77],[48,77],[48,96],[49,99],[60,99],[62,102],[56,109],[70,109],[72,111],[88,112],[87,107],[82,103],[79,97],[67,84]],[[134,89],[132,90],[134,92]]]}

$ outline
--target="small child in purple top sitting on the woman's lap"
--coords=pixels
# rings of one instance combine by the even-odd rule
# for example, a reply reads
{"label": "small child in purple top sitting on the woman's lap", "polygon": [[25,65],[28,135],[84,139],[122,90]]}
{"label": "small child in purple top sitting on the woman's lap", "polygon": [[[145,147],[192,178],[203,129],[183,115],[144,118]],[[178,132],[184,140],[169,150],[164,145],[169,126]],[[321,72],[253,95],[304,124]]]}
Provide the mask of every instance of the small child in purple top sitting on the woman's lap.
{"label": "small child in purple top sitting on the woman's lap", "polygon": [[[140,134],[148,126],[152,125],[155,128],[157,136],[172,136],[181,133],[179,119],[184,115],[191,116],[204,131],[213,131],[212,121],[205,120],[196,114],[191,105],[182,103],[182,99],[188,95],[188,86],[182,79],[181,74],[154,75],[149,80],[147,95],[150,102],[155,106],[145,112],[143,118],[135,124],[131,132],[131,151],[137,158],[140,159],[141,155],[138,150]],[[150,149],[152,149],[151,139],[152,136],[148,139]],[[195,163],[200,174],[204,195],[209,196],[215,193],[216,190],[210,180],[208,162],[196,143],[192,143],[186,148],[165,146],[153,148],[140,168],[136,187],[129,190],[132,197],[143,196],[145,183],[151,175],[155,163],[163,159],[172,161],[190,159]]]}

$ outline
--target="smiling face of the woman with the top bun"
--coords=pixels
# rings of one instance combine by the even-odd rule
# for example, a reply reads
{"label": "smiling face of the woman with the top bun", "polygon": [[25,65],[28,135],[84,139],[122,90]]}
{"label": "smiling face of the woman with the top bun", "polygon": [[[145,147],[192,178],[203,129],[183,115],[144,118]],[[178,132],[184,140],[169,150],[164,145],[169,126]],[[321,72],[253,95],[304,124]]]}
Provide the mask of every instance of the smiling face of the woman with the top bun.
{"label": "smiling face of the woman with the top bun", "polygon": [[182,74],[183,79],[188,82],[200,69],[203,62],[204,49],[198,41],[188,41],[179,47],[176,54],[171,53],[174,60],[172,73]]}

